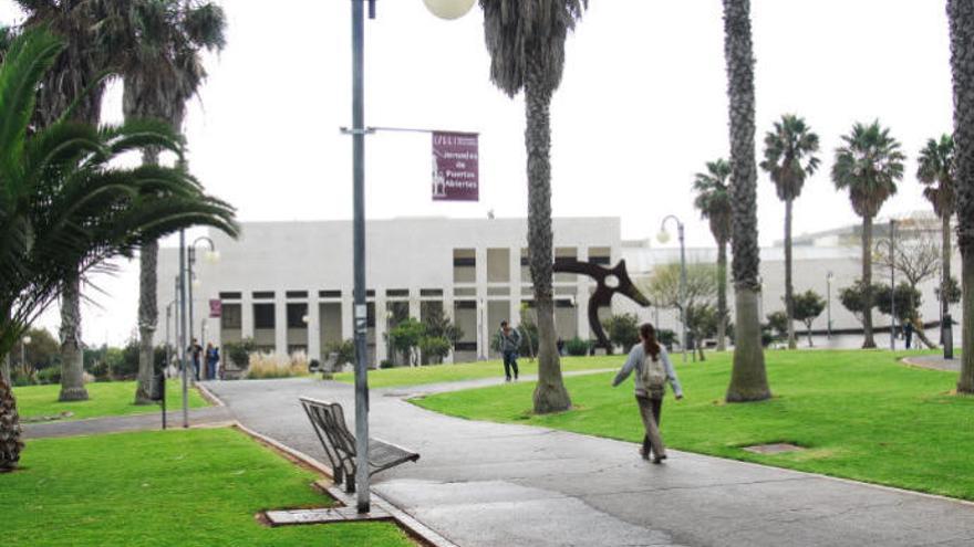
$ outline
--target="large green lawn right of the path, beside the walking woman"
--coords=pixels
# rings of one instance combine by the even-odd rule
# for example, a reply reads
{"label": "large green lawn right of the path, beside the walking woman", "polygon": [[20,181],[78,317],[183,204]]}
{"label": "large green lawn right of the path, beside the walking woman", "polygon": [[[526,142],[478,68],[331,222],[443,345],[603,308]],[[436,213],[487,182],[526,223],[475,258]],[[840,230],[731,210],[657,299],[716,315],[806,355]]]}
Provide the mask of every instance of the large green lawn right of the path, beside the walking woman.
{"label": "large green lawn right of the path, beside the walking woman", "polygon": [[[676,402],[669,396],[664,403],[667,445],[974,499],[974,397],[951,395],[955,372],[906,367],[889,351],[766,356],[775,397],[759,403],[723,402],[729,354],[712,355],[702,365],[677,365],[686,398]],[[555,415],[530,415],[532,382],[443,393],[416,403],[469,419],[639,441],[632,380],[612,389],[611,378],[567,378],[578,409]],[[780,455],[740,450],[780,441],[809,450]]]}

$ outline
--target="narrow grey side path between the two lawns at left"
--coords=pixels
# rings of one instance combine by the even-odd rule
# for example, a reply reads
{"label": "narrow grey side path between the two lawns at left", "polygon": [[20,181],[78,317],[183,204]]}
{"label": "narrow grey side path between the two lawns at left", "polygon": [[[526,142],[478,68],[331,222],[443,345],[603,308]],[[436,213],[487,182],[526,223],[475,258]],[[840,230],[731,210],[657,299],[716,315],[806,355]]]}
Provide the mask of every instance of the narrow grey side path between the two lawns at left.
{"label": "narrow grey side path between the two lawns at left", "polygon": [[[166,420],[168,421],[168,428],[182,428],[183,412],[166,412]],[[190,427],[229,423],[234,418],[226,407],[209,407],[189,411]],[[23,433],[25,439],[42,439],[48,436],[95,435],[123,431],[156,430],[162,429],[162,412],[153,412],[148,414],[89,418],[85,420],[25,423],[23,424]]]}

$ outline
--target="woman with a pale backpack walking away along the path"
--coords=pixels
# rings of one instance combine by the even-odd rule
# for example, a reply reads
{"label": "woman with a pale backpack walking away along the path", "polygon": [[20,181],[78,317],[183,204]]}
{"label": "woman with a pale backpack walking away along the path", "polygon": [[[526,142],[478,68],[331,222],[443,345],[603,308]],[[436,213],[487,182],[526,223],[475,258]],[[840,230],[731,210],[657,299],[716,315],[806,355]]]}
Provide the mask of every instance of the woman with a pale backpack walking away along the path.
{"label": "woman with a pale backpack walking away along the path", "polygon": [[669,381],[676,400],[683,399],[683,389],[680,387],[676,371],[673,370],[673,364],[670,362],[670,356],[656,341],[656,329],[649,323],[640,326],[640,344],[633,346],[629,353],[629,359],[615,375],[612,387],[622,383],[633,370],[635,370],[635,401],[646,430],[640,454],[643,460],[649,460],[652,455],[653,463],[661,463],[666,459],[666,448],[660,435],[660,413],[663,408],[665,386]]}

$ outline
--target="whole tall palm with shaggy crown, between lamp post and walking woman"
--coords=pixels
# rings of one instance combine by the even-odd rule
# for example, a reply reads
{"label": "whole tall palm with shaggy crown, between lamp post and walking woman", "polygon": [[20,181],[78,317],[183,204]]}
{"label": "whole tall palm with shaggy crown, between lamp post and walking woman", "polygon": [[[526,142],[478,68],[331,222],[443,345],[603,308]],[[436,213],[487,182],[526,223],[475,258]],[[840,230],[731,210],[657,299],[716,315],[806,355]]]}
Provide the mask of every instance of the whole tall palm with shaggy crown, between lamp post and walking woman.
{"label": "whole tall palm with shaggy crown, between lamp post and walking woman", "polygon": [[588,0],[480,0],[490,80],[507,95],[525,92],[528,155],[528,245],[538,315],[535,412],[571,408],[561,379],[552,302],[551,95],[561,83],[564,40]]}

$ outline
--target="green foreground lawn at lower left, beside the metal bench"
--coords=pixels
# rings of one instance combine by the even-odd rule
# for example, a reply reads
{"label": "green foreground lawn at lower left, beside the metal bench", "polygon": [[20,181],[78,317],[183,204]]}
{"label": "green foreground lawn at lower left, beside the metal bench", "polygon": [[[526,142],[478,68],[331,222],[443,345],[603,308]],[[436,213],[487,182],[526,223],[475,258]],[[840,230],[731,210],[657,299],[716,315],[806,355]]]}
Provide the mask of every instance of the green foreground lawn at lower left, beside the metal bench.
{"label": "green foreground lawn at lower left, beside the metal bench", "polygon": [[332,502],[231,429],[29,441],[21,464],[0,474],[4,546],[415,545],[390,523],[261,526],[261,509]]}

